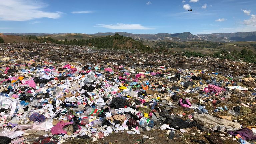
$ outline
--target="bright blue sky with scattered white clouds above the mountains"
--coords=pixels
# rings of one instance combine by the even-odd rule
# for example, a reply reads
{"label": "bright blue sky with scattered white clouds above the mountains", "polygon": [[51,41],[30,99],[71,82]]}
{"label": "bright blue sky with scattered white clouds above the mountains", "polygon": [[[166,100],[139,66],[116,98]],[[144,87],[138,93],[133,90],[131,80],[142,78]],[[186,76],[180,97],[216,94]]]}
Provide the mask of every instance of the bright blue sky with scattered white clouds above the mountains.
{"label": "bright blue sky with scattered white clouds above the mountains", "polygon": [[255,7],[255,0],[0,0],[0,32],[256,31]]}

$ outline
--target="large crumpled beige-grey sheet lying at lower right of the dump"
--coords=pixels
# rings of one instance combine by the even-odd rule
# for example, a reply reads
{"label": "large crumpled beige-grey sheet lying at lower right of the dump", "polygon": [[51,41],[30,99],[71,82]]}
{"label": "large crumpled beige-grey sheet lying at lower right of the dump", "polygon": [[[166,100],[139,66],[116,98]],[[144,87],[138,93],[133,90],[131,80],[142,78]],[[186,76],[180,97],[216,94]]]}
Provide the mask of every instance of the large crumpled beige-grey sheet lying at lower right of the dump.
{"label": "large crumpled beige-grey sheet lying at lower right of the dump", "polygon": [[221,129],[221,131],[230,131],[240,128],[240,124],[237,122],[216,118],[208,114],[195,114],[194,120],[196,120],[200,125],[225,126],[224,129]]}

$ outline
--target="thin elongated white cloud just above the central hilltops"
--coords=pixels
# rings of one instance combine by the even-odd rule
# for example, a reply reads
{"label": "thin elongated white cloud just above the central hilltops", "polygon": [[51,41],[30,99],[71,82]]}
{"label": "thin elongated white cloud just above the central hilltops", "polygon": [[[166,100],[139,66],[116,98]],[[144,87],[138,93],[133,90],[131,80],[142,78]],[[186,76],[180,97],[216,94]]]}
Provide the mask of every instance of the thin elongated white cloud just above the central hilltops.
{"label": "thin elongated white cloud just above the central hilltops", "polygon": [[147,29],[153,29],[153,28],[148,28],[144,27],[140,24],[123,24],[123,23],[117,23],[117,24],[97,24],[96,27],[104,27],[108,29],[118,29],[118,30],[147,30]]}

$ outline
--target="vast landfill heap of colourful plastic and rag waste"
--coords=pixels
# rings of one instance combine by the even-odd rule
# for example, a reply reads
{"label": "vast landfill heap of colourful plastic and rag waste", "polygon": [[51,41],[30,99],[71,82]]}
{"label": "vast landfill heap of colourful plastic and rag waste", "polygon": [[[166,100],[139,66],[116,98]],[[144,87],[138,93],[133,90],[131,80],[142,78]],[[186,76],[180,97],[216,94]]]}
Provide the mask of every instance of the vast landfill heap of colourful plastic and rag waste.
{"label": "vast landfill heap of colourful plastic and rag waste", "polygon": [[2,144],[256,140],[255,64],[48,43],[0,49]]}

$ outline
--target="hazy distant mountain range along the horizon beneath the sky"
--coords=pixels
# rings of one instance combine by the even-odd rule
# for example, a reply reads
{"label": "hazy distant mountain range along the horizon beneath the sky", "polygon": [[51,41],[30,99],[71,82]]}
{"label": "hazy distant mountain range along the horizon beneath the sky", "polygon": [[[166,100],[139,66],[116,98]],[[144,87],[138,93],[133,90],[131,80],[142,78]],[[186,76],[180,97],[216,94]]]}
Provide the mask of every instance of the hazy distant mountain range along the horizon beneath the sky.
{"label": "hazy distant mountain range along the horizon beneath the sky", "polygon": [[[214,41],[214,42],[230,42],[230,41],[256,41],[256,32],[237,32],[237,33],[216,33],[216,34],[200,34],[193,35],[190,32],[183,33],[158,33],[158,34],[132,34],[126,32],[115,32],[123,36],[132,37],[135,40],[172,40],[172,41],[191,41],[191,40],[204,40],[204,41]],[[114,35],[115,33],[96,33],[91,34],[91,36],[107,36]],[[71,33],[4,33],[4,35],[36,35],[36,36],[48,36],[48,35],[70,35]],[[72,35],[76,35],[73,34]],[[86,35],[88,34],[77,34]]]}

